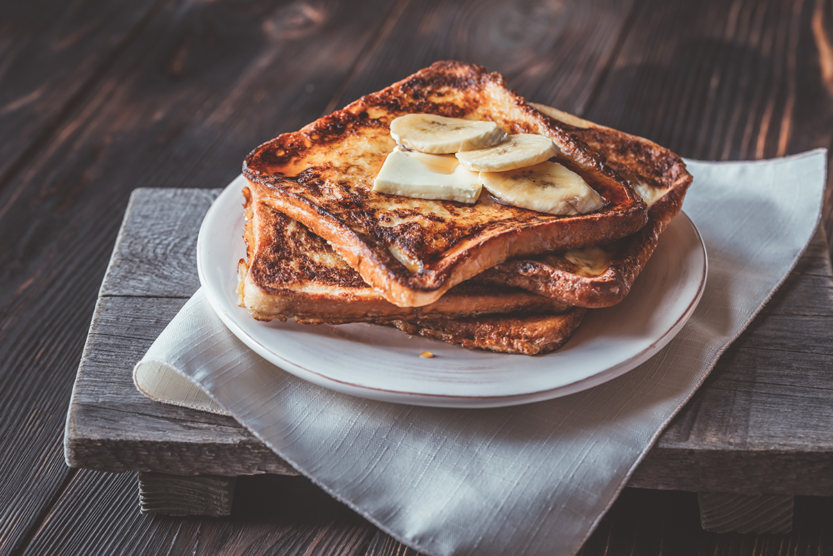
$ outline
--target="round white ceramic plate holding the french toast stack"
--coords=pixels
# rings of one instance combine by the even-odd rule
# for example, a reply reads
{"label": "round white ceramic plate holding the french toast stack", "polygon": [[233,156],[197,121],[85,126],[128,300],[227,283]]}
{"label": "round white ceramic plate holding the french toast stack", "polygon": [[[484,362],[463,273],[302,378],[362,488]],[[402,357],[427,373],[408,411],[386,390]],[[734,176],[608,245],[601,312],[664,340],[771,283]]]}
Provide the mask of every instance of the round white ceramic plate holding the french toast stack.
{"label": "round white ceramic plate holding the french toast stack", "polygon": [[[387,326],[263,323],[237,306],[242,176],[214,201],[197,241],[200,281],[217,315],[246,345],[293,375],[345,394],[412,405],[499,407],[585,390],[648,360],[679,332],[706,285],[706,249],[677,216],[620,304],[587,311],[547,355],[466,350]],[[433,359],[421,359],[431,351]]]}

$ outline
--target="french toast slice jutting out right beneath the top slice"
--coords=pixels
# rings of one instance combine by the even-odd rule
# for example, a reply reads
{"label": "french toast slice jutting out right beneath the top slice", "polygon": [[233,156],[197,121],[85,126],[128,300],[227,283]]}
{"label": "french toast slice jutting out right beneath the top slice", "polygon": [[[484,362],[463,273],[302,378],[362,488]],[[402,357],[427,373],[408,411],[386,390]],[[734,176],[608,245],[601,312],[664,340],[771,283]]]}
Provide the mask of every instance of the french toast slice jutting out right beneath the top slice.
{"label": "french toast slice jutting out right beneath the top slice", "polygon": [[472,280],[513,285],[581,307],[607,307],[631,290],[662,231],[682,206],[691,174],[679,156],[642,137],[599,126],[566,112],[531,105],[604,156],[607,166],[631,181],[648,208],[636,234],[600,246],[517,258]]}

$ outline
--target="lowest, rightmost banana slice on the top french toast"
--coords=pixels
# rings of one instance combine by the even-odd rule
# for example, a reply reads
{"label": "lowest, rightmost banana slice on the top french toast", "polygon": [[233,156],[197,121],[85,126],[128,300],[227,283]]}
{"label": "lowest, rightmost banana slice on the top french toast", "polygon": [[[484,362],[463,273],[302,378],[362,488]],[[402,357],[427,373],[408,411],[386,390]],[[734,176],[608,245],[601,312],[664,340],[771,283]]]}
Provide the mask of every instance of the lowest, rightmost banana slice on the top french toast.
{"label": "lowest, rightmost banana slice on the top french toast", "polygon": [[604,202],[574,171],[557,162],[541,162],[510,171],[481,171],[491,195],[509,205],[561,216],[597,211]]}

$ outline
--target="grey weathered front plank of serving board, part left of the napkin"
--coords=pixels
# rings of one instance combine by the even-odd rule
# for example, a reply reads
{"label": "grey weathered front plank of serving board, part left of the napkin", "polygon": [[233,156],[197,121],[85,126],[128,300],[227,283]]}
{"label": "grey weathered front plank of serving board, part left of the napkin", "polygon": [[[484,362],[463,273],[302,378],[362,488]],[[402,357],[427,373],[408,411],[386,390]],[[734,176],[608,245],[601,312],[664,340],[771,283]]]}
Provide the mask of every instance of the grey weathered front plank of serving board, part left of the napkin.
{"label": "grey weathered front plank of serving board, part left of the napkin", "polygon": [[67,462],[112,472],[296,474],[231,417],[160,404],[132,367],[185,300],[102,298],[67,415]]}

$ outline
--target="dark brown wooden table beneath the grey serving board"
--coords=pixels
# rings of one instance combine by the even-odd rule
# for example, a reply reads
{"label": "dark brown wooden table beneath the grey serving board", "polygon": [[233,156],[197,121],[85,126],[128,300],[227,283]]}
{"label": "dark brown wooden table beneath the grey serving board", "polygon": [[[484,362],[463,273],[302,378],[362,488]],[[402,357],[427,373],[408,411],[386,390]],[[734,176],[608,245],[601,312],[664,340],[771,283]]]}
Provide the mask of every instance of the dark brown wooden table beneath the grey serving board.
{"label": "dark brown wooden table beneath the grey serving board", "polygon": [[[3,2],[0,554],[409,552],[297,477],[239,479],[232,518],[141,515],[135,474],[67,468],[62,437],[133,189],[224,186],[252,146],[442,58],[683,156],[833,140],[821,0]],[[797,499],[791,534],[720,535],[694,494],[626,489],[582,554],[830,554],[831,530],[827,498]]]}

